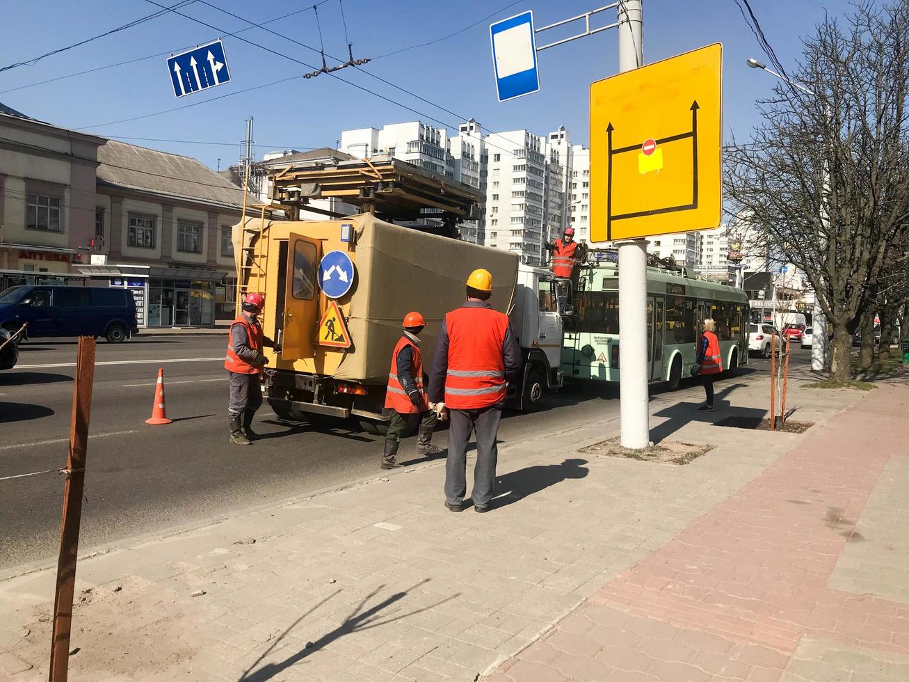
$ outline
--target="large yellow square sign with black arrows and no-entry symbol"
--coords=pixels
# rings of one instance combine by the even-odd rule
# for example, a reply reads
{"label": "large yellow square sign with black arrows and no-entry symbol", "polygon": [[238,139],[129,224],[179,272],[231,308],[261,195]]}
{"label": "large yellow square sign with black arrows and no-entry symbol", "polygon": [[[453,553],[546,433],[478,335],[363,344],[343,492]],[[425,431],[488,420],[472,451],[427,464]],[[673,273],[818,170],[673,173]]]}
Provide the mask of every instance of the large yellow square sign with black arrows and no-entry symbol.
{"label": "large yellow square sign with black arrows and no-entry symbol", "polygon": [[720,225],[723,45],[590,86],[590,238]]}

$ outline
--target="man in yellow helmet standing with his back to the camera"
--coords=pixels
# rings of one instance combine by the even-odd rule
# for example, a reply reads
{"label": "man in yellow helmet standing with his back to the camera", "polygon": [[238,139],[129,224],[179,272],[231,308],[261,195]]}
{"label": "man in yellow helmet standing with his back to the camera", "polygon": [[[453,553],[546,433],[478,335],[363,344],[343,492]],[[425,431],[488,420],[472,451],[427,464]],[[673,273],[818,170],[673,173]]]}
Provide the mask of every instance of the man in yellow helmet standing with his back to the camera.
{"label": "man in yellow helmet standing with his back to the camera", "polygon": [[494,495],[496,436],[508,384],[521,367],[521,349],[508,316],[493,309],[493,276],[474,270],[464,306],[445,316],[433,356],[429,399],[440,418],[450,414],[445,462],[445,506],[464,509],[467,445],[476,432],[474,509],[484,512]]}

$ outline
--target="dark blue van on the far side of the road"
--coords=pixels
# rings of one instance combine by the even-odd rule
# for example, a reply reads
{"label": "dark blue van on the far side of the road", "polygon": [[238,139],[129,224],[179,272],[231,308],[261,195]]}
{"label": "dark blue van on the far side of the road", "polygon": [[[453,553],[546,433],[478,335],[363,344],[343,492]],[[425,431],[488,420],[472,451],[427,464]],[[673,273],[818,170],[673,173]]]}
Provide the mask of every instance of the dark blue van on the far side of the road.
{"label": "dark blue van on the far side of the road", "polygon": [[25,338],[105,336],[119,344],[139,330],[133,292],[91,286],[11,286],[0,294],[0,326],[15,332],[24,322]]}

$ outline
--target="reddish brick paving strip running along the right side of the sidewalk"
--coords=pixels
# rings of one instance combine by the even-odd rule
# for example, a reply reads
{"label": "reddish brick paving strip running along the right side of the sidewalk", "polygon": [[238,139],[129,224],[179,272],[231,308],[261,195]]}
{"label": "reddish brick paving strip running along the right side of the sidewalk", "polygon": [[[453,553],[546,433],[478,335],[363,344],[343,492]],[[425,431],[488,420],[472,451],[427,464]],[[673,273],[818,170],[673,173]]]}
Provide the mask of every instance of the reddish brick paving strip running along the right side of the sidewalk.
{"label": "reddish brick paving strip running along the right side of the sidewalk", "polygon": [[909,389],[883,386],[609,582],[491,680],[778,680],[803,637],[909,654],[909,604],[827,587]]}

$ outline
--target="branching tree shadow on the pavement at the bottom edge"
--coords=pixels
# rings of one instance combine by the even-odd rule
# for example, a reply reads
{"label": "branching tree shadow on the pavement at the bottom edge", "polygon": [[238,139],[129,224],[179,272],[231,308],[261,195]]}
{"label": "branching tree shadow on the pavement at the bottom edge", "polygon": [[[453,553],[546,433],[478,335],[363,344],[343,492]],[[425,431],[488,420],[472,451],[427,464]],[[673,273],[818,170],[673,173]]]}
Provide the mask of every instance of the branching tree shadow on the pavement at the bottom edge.
{"label": "branching tree shadow on the pavement at the bottom edge", "polygon": [[[429,582],[429,578],[425,578],[424,580],[420,581],[414,587],[411,587],[411,590],[415,589],[416,587],[420,587],[421,585],[424,585],[427,582]],[[255,672],[254,672],[253,668],[256,667],[257,665],[259,665],[259,663],[261,663],[262,660],[266,656],[268,656],[268,654],[271,653],[271,651],[274,650],[274,648],[276,646],[278,646],[278,644],[287,636],[287,634],[291,630],[293,630],[300,623],[300,621],[302,621],[306,616],[308,616],[313,611],[315,611],[315,609],[317,607],[320,607],[320,606],[322,606],[322,604],[325,604],[325,602],[328,601],[330,598],[335,597],[335,595],[338,594],[339,592],[341,592],[341,590],[337,590],[336,592],[329,595],[328,597],[325,597],[325,599],[323,599],[321,602],[319,602],[319,604],[317,604],[315,607],[309,609],[309,611],[307,611],[303,616],[297,618],[291,627],[288,627],[279,637],[277,637],[275,639],[275,642],[272,644],[272,646],[268,647],[265,650],[265,653],[263,653],[262,656],[260,656],[258,658],[258,660],[256,660],[255,663],[245,671],[245,673],[240,677],[239,682],[265,682],[265,680],[269,680],[269,679],[272,679],[273,677],[280,675],[287,668],[294,666],[296,663],[299,663],[305,657],[310,656],[311,654],[315,653],[319,649],[331,644],[335,640],[340,639],[341,637],[344,637],[345,635],[349,635],[352,632],[362,632],[364,630],[372,629],[373,627],[380,627],[380,626],[386,625],[388,623],[394,623],[396,620],[401,620],[402,618],[415,616],[418,613],[422,613],[424,611],[428,611],[431,608],[435,608],[442,604],[445,604],[445,602],[451,601],[452,599],[454,599],[456,597],[460,597],[460,595],[461,595],[461,593],[458,592],[458,593],[452,595],[451,597],[445,597],[445,599],[442,599],[441,601],[437,601],[435,604],[432,604],[430,606],[423,607],[423,608],[417,608],[414,611],[410,611],[405,614],[400,614],[395,617],[391,617],[391,616],[393,614],[395,614],[395,612],[398,609],[388,611],[388,612],[386,612],[386,614],[384,616],[380,616],[379,614],[382,611],[384,611],[386,608],[391,607],[393,604],[395,604],[395,602],[400,601],[401,599],[403,599],[404,597],[407,596],[407,593],[410,590],[405,590],[403,592],[395,592],[395,594],[392,595],[391,597],[387,597],[383,601],[376,604],[374,607],[370,607],[370,608],[366,609],[365,611],[363,611],[362,609],[366,606],[366,603],[370,599],[375,597],[383,587],[385,587],[385,585],[380,585],[379,587],[376,587],[372,592],[370,592],[369,595],[367,595],[354,608],[354,611],[348,617],[345,618],[344,623],[342,623],[338,627],[335,627],[335,629],[332,630],[331,632],[325,633],[325,635],[316,639],[315,642],[307,642],[306,646],[304,648],[300,649],[300,651],[295,653],[293,656],[286,657],[280,663],[269,663],[263,667],[260,667],[258,670],[255,670]]]}

